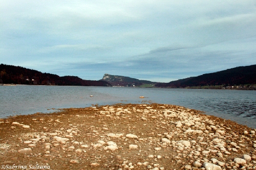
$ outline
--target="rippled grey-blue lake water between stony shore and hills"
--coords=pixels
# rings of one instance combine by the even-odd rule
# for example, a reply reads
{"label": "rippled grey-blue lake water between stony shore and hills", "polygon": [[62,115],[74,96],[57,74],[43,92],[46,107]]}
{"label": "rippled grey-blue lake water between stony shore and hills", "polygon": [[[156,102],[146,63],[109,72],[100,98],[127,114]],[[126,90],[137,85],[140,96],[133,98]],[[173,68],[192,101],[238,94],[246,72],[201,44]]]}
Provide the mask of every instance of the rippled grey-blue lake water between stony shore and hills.
{"label": "rippled grey-blue lake water between stony shore and hills", "polygon": [[[93,95],[93,97],[90,97]],[[145,98],[140,99],[143,95]],[[256,128],[256,91],[83,86],[0,86],[0,117],[116,103],[184,106]]]}

